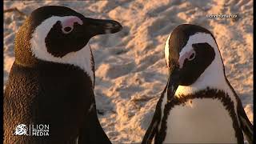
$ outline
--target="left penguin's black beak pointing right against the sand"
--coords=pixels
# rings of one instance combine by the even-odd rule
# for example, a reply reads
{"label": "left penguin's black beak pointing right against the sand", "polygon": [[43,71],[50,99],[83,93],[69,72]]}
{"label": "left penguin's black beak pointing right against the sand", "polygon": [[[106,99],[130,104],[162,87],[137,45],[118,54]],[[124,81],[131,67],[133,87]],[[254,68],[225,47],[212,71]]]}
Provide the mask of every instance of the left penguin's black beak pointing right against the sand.
{"label": "left penguin's black beak pointing right against the sand", "polygon": [[122,30],[122,25],[113,20],[85,18],[83,22],[86,29],[89,29],[93,36],[98,34],[114,34]]}

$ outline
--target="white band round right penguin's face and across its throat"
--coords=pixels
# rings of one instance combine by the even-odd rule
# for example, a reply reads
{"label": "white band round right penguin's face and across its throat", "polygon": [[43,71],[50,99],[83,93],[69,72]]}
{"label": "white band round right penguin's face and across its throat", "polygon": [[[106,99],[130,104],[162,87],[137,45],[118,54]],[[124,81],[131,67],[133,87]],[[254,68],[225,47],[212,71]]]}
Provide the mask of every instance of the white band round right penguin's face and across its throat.
{"label": "white band round right penguin's face and across its throat", "polygon": [[[210,34],[206,33],[197,33],[191,35],[186,46],[180,52],[180,55],[185,54],[187,51],[192,50],[192,44],[194,43],[204,43],[207,42],[210,46],[214,48],[215,58],[214,61],[206,68],[206,70],[200,75],[196,82],[190,86],[178,86],[178,89],[175,92],[176,96],[180,94],[194,94],[199,90],[204,90],[206,87],[223,90],[229,94],[231,100],[234,102],[234,107],[237,108],[237,101],[234,96],[233,91],[230,89],[230,86],[226,82],[223,63],[221,54],[219,53],[218,46],[214,41],[214,38]],[[237,111],[235,110],[237,113]],[[237,114],[238,116],[238,114]]]}

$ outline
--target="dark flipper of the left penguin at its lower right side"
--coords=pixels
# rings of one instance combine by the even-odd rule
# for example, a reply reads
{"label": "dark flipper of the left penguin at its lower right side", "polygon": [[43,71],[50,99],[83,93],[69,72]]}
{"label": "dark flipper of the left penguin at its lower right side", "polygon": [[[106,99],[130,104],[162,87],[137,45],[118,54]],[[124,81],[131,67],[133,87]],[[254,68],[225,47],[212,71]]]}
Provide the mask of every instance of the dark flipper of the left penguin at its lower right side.
{"label": "dark flipper of the left penguin at its lower right side", "polygon": [[105,134],[100,122],[98,122],[96,106],[91,108],[86,117],[84,126],[80,130],[78,144],[111,144],[110,139]]}

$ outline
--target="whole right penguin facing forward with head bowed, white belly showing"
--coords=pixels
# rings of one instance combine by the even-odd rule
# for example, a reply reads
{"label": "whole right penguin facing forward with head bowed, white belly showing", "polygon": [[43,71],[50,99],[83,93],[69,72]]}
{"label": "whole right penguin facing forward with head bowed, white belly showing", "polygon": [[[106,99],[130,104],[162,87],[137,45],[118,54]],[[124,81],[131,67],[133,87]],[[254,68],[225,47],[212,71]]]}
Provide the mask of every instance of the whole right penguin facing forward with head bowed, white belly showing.
{"label": "whole right penguin facing forward with head bowed, white belly showing", "polygon": [[253,125],[228,82],[209,30],[182,24],[165,46],[169,79],[142,143],[253,143]]}

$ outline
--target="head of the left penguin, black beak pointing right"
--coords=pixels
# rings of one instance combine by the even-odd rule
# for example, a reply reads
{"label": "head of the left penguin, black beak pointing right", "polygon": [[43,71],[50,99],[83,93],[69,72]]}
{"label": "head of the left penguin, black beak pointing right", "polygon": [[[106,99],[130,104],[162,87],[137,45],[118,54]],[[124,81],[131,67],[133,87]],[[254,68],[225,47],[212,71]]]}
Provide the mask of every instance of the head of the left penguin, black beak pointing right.
{"label": "head of the left penguin, black beak pointing right", "polygon": [[113,34],[120,30],[122,26],[116,21],[85,18],[65,6],[43,6],[34,10],[18,30],[15,56],[21,62],[30,62],[30,58],[24,57],[31,52],[46,61],[49,60],[48,55],[62,58],[82,50],[95,35]]}

